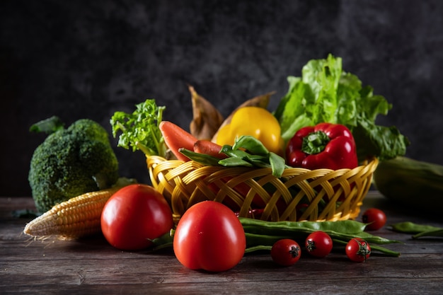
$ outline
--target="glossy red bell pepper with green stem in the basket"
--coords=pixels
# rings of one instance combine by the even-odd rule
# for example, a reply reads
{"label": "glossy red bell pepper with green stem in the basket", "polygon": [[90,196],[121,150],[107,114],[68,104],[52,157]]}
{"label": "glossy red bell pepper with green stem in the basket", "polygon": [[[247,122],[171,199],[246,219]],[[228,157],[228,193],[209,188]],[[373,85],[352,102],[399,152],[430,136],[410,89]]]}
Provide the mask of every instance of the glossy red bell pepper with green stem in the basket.
{"label": "glossy red bell pepper with green stem in the basket", "polygon": [[320,123],[303,127],[289,140],[286,161],[289,166],[311,170],[352,169],[358,165],[355,140],[344,125]]}

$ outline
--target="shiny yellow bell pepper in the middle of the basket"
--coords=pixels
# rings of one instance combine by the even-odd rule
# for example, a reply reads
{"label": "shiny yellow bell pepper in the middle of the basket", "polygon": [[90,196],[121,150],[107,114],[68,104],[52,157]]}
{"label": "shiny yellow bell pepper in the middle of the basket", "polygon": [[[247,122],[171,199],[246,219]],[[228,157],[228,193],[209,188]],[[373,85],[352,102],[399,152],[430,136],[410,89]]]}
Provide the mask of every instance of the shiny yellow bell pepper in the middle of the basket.
{"label": "shiny yellow bell pepper in the middle of the basket", "polygon": [[233,145],[237,137],[250,135],[260,140],[268,151],[282,155],[284,141],[280,124],[268,110],[259,107],[239,108],[228,125],[219,129],[217,144]]}

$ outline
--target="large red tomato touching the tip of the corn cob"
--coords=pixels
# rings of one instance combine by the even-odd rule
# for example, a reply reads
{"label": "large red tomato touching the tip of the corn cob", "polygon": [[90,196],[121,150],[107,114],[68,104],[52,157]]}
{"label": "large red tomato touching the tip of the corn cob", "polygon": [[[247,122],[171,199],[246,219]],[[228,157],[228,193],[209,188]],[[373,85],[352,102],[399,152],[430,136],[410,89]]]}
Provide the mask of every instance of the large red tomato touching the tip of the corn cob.
{"label": "large red tomato touching the tip of the corn cob", "polygon": [[173,227],[171,208],[159,191],[149,185],[123,187],[108,199],[101,214],[106,240],[121,250],[140,250],[152,245]]}

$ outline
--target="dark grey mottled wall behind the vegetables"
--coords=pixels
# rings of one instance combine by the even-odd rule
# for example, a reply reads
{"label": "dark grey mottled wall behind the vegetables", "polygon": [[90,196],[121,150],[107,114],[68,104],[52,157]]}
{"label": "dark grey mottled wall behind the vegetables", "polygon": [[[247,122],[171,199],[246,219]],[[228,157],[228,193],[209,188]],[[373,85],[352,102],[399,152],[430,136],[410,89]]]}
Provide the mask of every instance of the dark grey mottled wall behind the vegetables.
{"label": "dark grey mottled wall behind the vegetables", "polygon": [[[1,195],[30,195],[33,122],[110,131],[113,112],[156,98],[188,128],[188,83],[224,115],[268,91],[273,108],[328,53],[393,104],[379,122],[409,137],[408,156],[443,164],[442,16],[439,0],[0,1]],[[115,151],[122,175],[149,181],[141,152]]]}

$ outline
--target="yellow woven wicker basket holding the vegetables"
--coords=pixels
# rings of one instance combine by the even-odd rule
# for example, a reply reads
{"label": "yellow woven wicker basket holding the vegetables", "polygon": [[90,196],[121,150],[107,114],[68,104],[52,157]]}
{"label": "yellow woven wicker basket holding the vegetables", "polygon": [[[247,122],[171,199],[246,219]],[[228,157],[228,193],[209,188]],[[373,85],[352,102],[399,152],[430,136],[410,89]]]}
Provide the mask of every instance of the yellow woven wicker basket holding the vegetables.
{"label": "yellow woven wicker basket holding the vegetables", "polygon": [[[287,168],[281,178],[270,168],[203,166],[195,161],[146,158],[151,183],[168,200],[174,221],[192,204],[222,202],[238,216],[268,221],[355,219],[379,161],[354,169]],[[257,204],[263,210],[254,215]]]}

